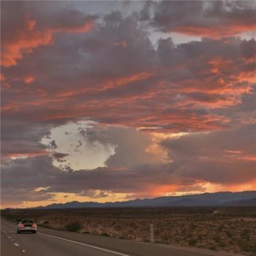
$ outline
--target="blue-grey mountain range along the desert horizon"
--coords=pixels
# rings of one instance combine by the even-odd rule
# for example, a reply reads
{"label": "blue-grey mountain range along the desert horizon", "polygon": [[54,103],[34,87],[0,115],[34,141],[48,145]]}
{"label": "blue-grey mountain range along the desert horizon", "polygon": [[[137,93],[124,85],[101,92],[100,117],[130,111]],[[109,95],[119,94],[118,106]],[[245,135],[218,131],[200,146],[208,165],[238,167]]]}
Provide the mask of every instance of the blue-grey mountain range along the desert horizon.
{"label": "blue-grey mountain range along the desert horizon", "polygon": [[187,196],[162,196],[153,199],[135,199],[124,202],[67,202],[50,204],[44,209],[57,208],[99,208],[99,207],[163,207],[163,206],[204,206],[204,205],[241,205],[256,206],[256,191],[217,192],[190,194]]}

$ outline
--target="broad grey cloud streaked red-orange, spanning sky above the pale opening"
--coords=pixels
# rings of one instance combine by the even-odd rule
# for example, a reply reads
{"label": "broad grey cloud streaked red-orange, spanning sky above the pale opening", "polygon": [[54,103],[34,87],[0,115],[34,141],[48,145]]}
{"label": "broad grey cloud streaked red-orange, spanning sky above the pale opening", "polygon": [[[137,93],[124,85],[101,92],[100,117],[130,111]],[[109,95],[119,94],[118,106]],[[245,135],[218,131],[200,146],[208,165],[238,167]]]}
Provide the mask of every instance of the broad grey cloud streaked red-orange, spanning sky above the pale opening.
{"label": "broad grey cloud streaked red-orange, spanning sky above the pale opening", "polygon": [[[101,123],[156,127],[161,131],[177,131],[177,127],[184,132],[214,130],[227,126],[229,116],[219,115],[215,109],[241,104],[244,94],[251,93],[254,40],[205,38],[176,46],[168,38],[160,40],[155,51],[150,43],[145,44],[147,38],[133,23],[121,20],[116,26],[105,24],[86,35],[95,39],[105,33],[106,40],[109,34],[110,41],[115,41],[113,35],[123,30],[133,34],[135,30],[140,43],[135,43],[133,36],[128,40],[126,33],[130,43],[121,50],[124,53],[110,43],[109,48],[107,44],[98,53],[87,50],[85,55],[79,55],[83,42],[80,37],[68,37],[71,41],[60,37],[55,38],[55,43],[65,50],[69,62],[63,63],[63,55],[55,55],[57,48],[52,46],[41,49],[37,55],[30,54],[20,66],[4,70],[12,87],[4,88],[2,115],[54,124],[86,116]],[[247,53],[246,44],[251,45]],[[124,54],[122,58],[108,63],[112,55],[120,54]],[[146,60],[144,55],[151,57]],[[24,91],[23,84],[14,80],[12,74],[19,76],[29,65],[35,67],[38,82]],[[59,65],[62,71],[54,68]],[[47,79],[45,73],[49,74]],[[188,118],[194,120],[191,125]]]}

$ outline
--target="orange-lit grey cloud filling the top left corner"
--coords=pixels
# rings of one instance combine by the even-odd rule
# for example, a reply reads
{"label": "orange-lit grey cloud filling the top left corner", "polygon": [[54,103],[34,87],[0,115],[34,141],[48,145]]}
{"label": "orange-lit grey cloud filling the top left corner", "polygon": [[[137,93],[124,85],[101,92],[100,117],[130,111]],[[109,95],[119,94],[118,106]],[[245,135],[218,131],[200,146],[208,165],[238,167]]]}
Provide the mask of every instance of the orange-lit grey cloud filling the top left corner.
{"label": "orange-lit grey cloud filling the top left corner", "polygon": [[[44,3],[3,2],[1,4],[2,41],[1,65],[17,65],[24,54],[30,54],[35,48],[53,43],[57,32],[88,32],[96,24],[96,16],[85,16],[78,10],[59,9],[40,13]],[[46,5],[48,5],[46,3]],[[10,19],[9,14],[15,12]],[[72,19],[70,17],[73,17]],[[18,26],[13,27],[13,23]]]}

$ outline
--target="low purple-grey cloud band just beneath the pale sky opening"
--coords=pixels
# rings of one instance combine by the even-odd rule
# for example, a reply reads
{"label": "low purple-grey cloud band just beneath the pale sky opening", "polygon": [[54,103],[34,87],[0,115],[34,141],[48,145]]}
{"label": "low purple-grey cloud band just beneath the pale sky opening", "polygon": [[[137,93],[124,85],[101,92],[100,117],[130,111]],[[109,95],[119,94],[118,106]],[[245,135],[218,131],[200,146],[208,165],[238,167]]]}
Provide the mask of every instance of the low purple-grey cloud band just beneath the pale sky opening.
{"label": "low purple-grey cloud band just beneath the pale sky opening", "polygon": [[[155,169],[159,171],[155,172]],[[15,191],[25,188],[32,191],[38,187],[48,187],[44,190],[46,194],[84,193],[87,190],[139,193],[148,190],[148,187],[169,183],[172,172],[168,166],[162,165],[145,165],[137,169],[105,167],[67,172],[53,166],[51,157],[30,157],[13,160],[12,165],[6,162],[2,166],[2,191],[12,190],[12,194],[15,194]],[[178,180],[173,178],[173,182]]]}

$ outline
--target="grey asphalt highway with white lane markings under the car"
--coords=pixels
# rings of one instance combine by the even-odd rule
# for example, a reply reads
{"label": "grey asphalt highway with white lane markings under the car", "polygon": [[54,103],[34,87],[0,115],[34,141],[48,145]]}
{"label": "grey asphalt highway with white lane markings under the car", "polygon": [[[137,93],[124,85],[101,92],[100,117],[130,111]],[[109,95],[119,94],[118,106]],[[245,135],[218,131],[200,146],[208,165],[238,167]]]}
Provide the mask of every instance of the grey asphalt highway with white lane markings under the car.
{"label": "grey asphalt highway with white lane markings under the car", "polygon": [[[1,219],[1,256],[207,256],[169,246],[38,227],[38,233],[16,233],[15,224]],[[223,255],[223,254],[221,254]]]}

